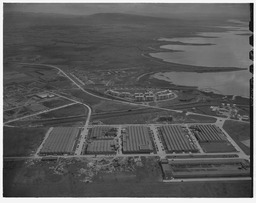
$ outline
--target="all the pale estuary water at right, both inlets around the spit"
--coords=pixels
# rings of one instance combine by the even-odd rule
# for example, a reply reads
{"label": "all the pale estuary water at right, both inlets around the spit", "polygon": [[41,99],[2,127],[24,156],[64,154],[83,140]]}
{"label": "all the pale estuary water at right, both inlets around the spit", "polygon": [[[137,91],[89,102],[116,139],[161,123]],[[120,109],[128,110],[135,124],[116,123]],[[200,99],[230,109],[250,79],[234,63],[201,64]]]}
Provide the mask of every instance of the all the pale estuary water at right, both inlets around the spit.
{"label": "all the pale estuary water at right, both inlets around the spit", "polygon": [[[244,25],[243,25],[244,26]],[[178,64],[203,67],[238,67],[249,68],[248,27],[226,26],[225,32],[198,33],[196,37],[188,38],[160,38],[167,45],[164,49],[179,52],[151,53],[152,57]],[[171,42],[171,44],[168,44]],[[182,45],[172,43],[181,42]],[[249,70],[194,73],[194,72],[167,72],[156,73],[153,77],[166,80],[178,85],[197,86],[200,89],[211,88],[221,94],[232,94],[249,97]]]}

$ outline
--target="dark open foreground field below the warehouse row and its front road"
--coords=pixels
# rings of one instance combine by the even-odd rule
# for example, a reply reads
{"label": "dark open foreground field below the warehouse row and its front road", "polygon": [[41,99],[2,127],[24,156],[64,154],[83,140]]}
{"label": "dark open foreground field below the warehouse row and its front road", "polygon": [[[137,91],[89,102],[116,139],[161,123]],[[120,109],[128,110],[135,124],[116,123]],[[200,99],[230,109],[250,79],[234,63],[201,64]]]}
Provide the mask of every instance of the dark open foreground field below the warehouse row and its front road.
{"label": "dark open foreground field below the warehouse row and its front road", "polygon": [[[251,181],[163,183],[154,159],[142,159],[134,172],[100,172],[92,183],[79,181],[76,171],[84,162],[64,166],[65,175],[55,174],[58,162],[28,164],[4,162],[4,197],[250,197]],[[14,164],[13,164],[14,163]],[[17,163],[17,164],[16,164]],[[85,162],[86,163],[86,162]],[[128,169],[133,164],[121,164]],[[61,165],[60,165],[61,166]],[[58,170],[58,169],[57,169]],[[60,170],[61,171],[61,170]],[[63,172],[61,172],[63,173]],[[82,175],[84,177],[84,175]]]}

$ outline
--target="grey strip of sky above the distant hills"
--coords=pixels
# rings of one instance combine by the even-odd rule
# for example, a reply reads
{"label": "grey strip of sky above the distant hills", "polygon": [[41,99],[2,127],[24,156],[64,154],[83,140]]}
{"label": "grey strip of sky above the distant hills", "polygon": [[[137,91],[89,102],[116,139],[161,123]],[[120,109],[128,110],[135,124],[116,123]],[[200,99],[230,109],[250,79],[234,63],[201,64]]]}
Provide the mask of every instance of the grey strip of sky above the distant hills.
{"label": "grey strip of sky above the distant hills", "polygon": [[173,3],[5,3],[4,11],[91,15],[127,13],[156,17],[235,16],[249,18],[249,4],[173,4]]}

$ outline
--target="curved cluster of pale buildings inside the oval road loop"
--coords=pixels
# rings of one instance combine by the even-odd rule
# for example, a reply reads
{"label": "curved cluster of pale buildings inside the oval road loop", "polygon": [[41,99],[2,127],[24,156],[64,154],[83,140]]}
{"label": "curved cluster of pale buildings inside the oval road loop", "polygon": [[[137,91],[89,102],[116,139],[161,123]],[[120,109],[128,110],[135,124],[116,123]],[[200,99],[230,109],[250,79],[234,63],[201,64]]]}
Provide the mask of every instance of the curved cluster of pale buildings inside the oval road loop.
{"label": "curved cluster of pale buildings inside the oval road loop", "polygon": [[132,94],[130,92],[118,92],[110,89],[110,90],[107,90],[106,93],[115,97],[132,98],[136,102],[154,101],[155,99],[166,100],[166,99],[172,98],[174,95],[171,90],[163,90],[155,93],[153,93],[152,91],[147,91],[145,93],[136,92]]}

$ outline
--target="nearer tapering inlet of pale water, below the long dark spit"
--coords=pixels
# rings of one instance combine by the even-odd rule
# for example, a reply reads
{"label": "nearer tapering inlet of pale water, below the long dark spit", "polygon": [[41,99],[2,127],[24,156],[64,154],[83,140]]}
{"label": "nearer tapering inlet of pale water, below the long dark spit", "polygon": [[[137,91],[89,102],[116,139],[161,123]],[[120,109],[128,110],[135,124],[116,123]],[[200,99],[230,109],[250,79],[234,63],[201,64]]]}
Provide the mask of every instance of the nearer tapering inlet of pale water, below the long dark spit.
{"label": "nearer tapering inlet of pale water, below the long dark spit", "polygon": [[223,95],[249,97],[249,71],[194,73],[167,72],[155,73],[154,78],[165,80],[176,85],[196,86]]}

